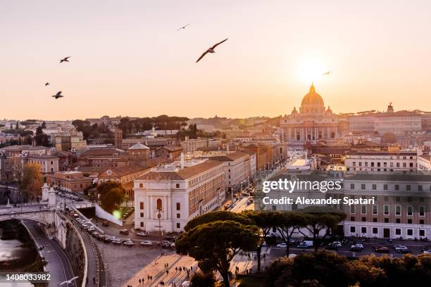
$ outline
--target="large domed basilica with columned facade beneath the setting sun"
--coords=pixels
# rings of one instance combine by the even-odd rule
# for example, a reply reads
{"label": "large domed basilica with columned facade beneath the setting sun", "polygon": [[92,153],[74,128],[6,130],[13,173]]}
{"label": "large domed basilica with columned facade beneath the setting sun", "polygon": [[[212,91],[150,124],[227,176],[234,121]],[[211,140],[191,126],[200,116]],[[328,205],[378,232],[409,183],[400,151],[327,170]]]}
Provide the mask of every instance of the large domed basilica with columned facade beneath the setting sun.
{"label": "large domed basilica with columned facade beneath the setting sun", "polygon": [[299,112],[294,108],[290,115],[280,119],[282,140],[288,142],[316,141],[335,139],[339,134],[339,117],[332,113],[311,84],[310,91],[304,96]]}

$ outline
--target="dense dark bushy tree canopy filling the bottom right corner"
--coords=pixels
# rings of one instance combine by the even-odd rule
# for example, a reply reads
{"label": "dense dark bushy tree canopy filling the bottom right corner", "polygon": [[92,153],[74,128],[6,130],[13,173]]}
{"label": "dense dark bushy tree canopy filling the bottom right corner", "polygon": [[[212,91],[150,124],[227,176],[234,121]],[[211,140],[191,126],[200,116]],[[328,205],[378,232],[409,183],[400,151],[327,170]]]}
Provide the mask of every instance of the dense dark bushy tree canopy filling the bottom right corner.
{"label": "dense dark bushy tree canopy filling the bottom right corner", "polygon": [[266,270],[269,287],[431,286],[431,255],[368,255],[358,260],[330,251],[282,257]]}

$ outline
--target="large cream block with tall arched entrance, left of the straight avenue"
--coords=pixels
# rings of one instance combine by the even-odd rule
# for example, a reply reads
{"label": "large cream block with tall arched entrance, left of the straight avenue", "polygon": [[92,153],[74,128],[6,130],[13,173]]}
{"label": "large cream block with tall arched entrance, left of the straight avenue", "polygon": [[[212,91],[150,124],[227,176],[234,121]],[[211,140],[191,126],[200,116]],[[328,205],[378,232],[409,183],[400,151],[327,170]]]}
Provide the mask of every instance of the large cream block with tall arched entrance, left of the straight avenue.
{"label": "large cream block with tall arched entrance, left of the straight avenue", "polygon": [[194,163],[160,168],[135,179],[135,229],[180,232],[189,219],[220,207],[225,200],[223,162]]}

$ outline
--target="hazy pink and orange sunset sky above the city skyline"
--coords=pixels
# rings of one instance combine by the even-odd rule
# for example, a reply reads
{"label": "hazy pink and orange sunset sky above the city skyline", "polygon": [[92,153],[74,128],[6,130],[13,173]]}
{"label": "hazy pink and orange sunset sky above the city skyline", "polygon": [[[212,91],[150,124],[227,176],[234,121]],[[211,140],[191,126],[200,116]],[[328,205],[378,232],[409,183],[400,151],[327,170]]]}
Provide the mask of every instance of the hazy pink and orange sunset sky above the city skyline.
{"label": "hazy pink and orange sunset sky above the city skyline", "polygon": [[335,113],[431,110],[430,27],[427,0],[1,0],[0,118],[275,117],[311,82]]}

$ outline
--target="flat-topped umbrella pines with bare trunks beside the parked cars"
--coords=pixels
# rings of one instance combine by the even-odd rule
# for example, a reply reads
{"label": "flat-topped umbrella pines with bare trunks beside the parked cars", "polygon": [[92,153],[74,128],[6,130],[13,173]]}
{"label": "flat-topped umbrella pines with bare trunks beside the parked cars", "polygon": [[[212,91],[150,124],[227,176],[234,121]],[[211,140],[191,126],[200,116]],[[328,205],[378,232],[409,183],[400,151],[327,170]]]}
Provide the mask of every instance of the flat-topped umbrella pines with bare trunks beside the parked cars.
{"label": "flat-topped umbrella pines with bare trunks beside the parked cars", "polygon": [[[273,229],[277,229],[282,241],[287,243],[288,255],[289,239],[294,231],[310,231],[317,245],[319,238],[335,230],[345,217],[338,210],[318,208],[296,212],[209,212],[187,223],[176,248],[177,253],[194,257],[204,273],[220,272],[228,287],[230,261],[240,250],[257,250],[260,271],[262,244]],[[322,235],[323,230],[329,232]]]}

